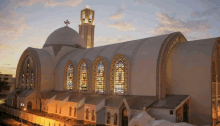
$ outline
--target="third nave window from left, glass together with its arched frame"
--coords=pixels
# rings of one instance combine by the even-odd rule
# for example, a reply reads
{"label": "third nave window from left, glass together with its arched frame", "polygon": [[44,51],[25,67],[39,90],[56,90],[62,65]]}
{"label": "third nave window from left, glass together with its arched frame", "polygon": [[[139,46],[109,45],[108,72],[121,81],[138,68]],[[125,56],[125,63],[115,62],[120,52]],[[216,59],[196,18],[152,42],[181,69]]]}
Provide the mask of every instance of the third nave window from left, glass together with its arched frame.
{"label": "third nave window from left, glass together with its arched frame", "polygon": [[93,63],[93,93],[104,93],[106,89],[106,66],[107,63],[103,57],[97,57]]}

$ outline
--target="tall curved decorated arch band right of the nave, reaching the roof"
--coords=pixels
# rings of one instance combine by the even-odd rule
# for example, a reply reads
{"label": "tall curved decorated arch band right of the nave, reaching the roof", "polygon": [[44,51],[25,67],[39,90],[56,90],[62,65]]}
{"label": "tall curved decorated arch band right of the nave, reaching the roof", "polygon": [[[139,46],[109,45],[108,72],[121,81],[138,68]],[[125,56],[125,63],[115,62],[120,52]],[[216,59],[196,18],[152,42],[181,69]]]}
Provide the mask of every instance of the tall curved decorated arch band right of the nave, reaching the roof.
{"label": "tall curved decorated arch band right of the nave, reaching the roof", "polygon": [[165,97],[165,72],[166,72],[166,63],[172,48],[182,42],[186,42],[187,39],[180,32],[175,32],[170,34],[165,41],[163,42],[160,52],[157,58],[157,69],[156,69],[156,94],[157,98],[161,99]]}

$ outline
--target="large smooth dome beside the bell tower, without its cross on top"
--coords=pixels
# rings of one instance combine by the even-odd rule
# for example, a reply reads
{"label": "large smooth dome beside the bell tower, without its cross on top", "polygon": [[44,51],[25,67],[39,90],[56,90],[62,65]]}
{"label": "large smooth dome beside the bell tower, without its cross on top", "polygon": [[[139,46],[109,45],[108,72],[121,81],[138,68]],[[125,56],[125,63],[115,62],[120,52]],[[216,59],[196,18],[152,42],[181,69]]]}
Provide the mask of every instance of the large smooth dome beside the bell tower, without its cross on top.
{"label": "large smooth dome beside the bell tower, without its cross on top", "polygon": [[52,45],[86,48],[86,44],[80,35],[68,26],[59,28],[51,33],[47,38],[43,48]]}

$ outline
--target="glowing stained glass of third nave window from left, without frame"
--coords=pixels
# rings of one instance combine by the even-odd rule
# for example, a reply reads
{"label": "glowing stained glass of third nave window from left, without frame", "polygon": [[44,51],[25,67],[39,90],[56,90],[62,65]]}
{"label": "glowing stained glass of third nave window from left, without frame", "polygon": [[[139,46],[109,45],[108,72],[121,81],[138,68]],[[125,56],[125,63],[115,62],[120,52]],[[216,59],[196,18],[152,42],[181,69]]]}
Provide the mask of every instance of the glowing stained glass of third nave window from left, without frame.
{"label": "glowing stained glass of third nave window from left, without frame", "polygon": [[96,92],[104,91],[104,65],[102,62],[98,64],[96,75]]}

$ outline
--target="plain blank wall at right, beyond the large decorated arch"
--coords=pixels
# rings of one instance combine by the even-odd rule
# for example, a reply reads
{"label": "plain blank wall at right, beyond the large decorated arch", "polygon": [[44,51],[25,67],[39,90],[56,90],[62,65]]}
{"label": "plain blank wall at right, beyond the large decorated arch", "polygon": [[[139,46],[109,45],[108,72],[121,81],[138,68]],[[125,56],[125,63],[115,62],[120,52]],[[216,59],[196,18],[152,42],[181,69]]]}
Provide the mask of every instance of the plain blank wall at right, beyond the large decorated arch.
{"label": "plain blank wall at right, beyond the large decorated arch", "polygon": [[174,46],[164,84],[168,94],[191,96],[191,122],[211,125],[211,61],[216,38]]}

